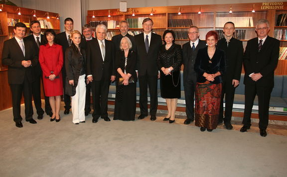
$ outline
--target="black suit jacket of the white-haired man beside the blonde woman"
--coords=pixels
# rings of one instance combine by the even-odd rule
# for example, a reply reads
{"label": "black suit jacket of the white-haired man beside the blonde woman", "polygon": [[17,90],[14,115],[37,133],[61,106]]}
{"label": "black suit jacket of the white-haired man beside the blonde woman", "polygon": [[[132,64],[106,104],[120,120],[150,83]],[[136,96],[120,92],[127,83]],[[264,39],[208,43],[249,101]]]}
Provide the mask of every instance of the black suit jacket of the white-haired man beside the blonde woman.
{"label": "black suit jacket of the white-haired man beside the blonde woman", "polygon": [[111,80],[111,76],[116,76],[114,70],[115,52],[114,45],[111,41],[105,39],[105,60],[103,61],[98,39],[87,42],[87,71],[86,75],[93,75],[94,81]]}

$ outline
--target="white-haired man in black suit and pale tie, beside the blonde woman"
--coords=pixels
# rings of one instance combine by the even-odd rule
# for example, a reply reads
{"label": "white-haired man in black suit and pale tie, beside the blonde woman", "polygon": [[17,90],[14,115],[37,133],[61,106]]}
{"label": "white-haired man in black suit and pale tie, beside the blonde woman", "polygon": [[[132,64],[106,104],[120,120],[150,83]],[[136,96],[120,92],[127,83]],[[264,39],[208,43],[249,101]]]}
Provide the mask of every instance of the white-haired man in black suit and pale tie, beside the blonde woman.
{"label": "white-haired man in black suit and pale tie, beside the blonde woman", "polygon": [[99,24],[96,27],[97,39],[87,42],[87,78],[92,84],[93,123],[101,116],[105,121],[108,117],[108,94],[111,82],[116,79],[114,69],[114,45],[105,39],[107,27]]}

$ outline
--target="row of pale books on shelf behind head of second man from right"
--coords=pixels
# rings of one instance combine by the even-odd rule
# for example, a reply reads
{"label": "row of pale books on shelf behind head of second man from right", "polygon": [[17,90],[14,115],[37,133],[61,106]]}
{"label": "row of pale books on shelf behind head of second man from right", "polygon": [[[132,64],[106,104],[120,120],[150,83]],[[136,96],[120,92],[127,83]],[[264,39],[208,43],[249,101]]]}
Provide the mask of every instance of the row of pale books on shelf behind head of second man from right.
{"label": "row of pale books on shelf behind head of second man from right", "polygon": [[228,21],[232,21],[235,24],[235,27],[253,27],[252,16],[216,17],[215,26],[216,27],[223,27],[224,24]]}

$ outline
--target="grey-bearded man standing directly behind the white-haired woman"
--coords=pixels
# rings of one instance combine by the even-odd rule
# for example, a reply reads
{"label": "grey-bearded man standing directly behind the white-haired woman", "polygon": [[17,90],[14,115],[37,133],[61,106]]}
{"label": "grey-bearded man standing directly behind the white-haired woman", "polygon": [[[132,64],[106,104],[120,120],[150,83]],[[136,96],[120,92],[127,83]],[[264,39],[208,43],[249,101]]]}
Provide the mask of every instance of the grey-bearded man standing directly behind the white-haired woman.
{"label": "grey-bearded man standing directly behind the white-haired woman", "polygon": [[129,23],[126,20],[120,21],[120,31],[121,31],[121,34],[115,35],[112,38],[112,42],[115,45],[116,51],[121,50],[120,43],[121,43],[122,38],[125,36],[127,36],[131,40],[132,45],[133,45],[132,50],[134,50],[135,49],[135,37],[128,33]]}

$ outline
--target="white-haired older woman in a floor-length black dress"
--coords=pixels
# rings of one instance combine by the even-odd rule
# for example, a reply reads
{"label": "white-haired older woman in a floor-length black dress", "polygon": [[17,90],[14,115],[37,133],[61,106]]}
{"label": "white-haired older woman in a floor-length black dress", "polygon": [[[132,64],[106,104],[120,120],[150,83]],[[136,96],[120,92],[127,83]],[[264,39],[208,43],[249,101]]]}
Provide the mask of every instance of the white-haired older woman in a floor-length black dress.
{"label": "white-haired older woman in a floor-length black dress", "polygon": [[123,37],[120,43],[122,51],[116,55],[116,103],[114,120],[135,120],[136,114],[136,53],[132,50],[132,42]]}

